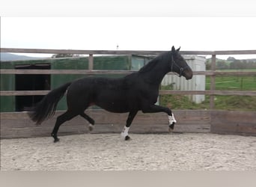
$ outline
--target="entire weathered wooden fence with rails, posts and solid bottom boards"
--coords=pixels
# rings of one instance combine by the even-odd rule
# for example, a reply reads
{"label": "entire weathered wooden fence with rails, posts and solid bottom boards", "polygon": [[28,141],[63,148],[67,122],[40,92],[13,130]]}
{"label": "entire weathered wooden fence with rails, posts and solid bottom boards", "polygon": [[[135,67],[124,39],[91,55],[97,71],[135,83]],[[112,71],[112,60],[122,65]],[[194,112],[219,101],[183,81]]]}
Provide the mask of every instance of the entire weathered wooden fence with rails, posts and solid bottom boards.
{"label": "entire weathered wooden fence with rails, posts and solid bottom boards", "polygon": [[[61,49],[9,49],[1,48],[1,52],[16,52],[16,53],[46,53],[46,54],[79,54],[89,55],[88,70],[4,70],[1,69],[1,74],[128,74],[134,71],[127,70],[93,70],[94,69],[94,55],[159,55],[163,51],[105,51],[105,50],[61,50]],[[214,110],[214,96],[215,95],[238,95],[238,96],[256,96],[256,91],[216,91],[215,77],[216,76],[255,76],[255,71],[246,72],[218,72],[216,71],[216,55],[252,55],[256,54],[256,50],[243,50],[243,51],[182,51],[181,55],[212,55],[211,70],[208,71],[195,71],[194,75],[210,76],[210,91],[160,91],[160,95],[164,94],[204,94],[210,95],[210,110],[208,111],[175,111],[178,113],[177,118],[180,120],[180,126],[177,125],[177,132],[213,132],[224,134],[243,134],[243,135],[256,135],[256,111],[215,111]],[[172,73],[170,73],[172,74]],[[45,95],[49,91],[1,91],[1,96],[21,96],[21,95]],[[100,126],[95,132],[120,132],[121,126],[124,126],[126,115],[124,114],[111,114],[106,111],[90,111],[96,121],[100,121]],[[59,113],[59,112],[58,112]],[[167,132],[166,124],[168,120],[165,119],[163,114],[153,114],[149,117],[148,114],[138,114],[135,118],[135,123],[144,123],[147,125],[141,127],[134,127],[131,132]],[[105,116],[105,118],[103,117]],[[108,116],[108,117],[106,117]],[[110,116],[110,117],[109,117]],[[145,117],[146,116],[146,117]],[[54,120],[53,118],[52,120]],[[105,119],[105,120],[104,120]],[[111,126],[106,125],[109,119],[113,119],[113,124],[119,124],[120,121],[123,125]],[[235,120],[234,120],[235,119]],[[54,123],[52,120],[49,122]],[[76,121],[76,127],[83,126],[80,122]],[[118,122],[119,121],[119,122]],[[30,124],[28,117],[24,113],[1,113],[1,138],[13,137],[30,137],[37,135],[45,135],[49,129],[40,126],[35,127]],[[72,120],[69,122],[72,123]],[[165,124],[165,126],[157,126],[156,124]],[[135,125],[134,125],[135,126]],[[22,128],[21,128],[22,127]],[[80,131],[75,126],[67,124],[63,129],[63,134],[79,133]],[[44,130],[43,130],[43,129]],[[82,128],[82,127],[81,127]],[[81,129],[80,128],[80,129]],[[27,129],[27,131],[24,131]],[[28,130],[29,129],[29,130]],[[81,132],[87,132],[82,128]],[[39,131],[37,131],[39,130]],[[16,132],[16,133],[14,133]],[[27,132],[27,133],[24,133]],[[50,130],[49,130],[50,132]],[[61,131],[60,131],[61,134]]]}

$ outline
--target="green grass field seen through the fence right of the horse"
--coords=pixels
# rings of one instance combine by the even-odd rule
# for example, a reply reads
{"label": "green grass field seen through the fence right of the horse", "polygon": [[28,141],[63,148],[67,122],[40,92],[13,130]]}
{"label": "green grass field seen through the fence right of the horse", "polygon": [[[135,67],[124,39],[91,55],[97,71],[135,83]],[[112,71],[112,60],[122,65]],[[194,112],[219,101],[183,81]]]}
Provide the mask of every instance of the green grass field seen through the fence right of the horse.
{"label": "green grass field seen through the fence right of the horse", "polygon": [[[206,90],[210,90],[210,76],[206,78]],[[162,87],[163,90],[171,86]],[[216,76],[216,91],[256,91],[256,76]],[[161,105],[173,109],[209,109],[210,96],[196,104],[186,96],[160,96]],[[220,110],[256,111],[256,96],[215,96],[215,108]]]}

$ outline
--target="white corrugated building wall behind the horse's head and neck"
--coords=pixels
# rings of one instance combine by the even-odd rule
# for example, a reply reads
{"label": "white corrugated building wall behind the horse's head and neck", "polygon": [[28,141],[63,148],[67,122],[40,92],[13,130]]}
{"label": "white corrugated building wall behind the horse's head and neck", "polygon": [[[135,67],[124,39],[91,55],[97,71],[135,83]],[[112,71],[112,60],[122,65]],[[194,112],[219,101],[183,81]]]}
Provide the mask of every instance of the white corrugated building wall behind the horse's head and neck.
{"label": "white corrugated building wall behind the horse's head and neck", "polygon": [[[183,55],[189,67],[192,71],[205,71],[206,58],[196,55]],[[161,85],[173,84],[174,90],[180,91],[205,91],[205,76],[193,76],[192,79],[186,80],[184,77],[176,75],[166,75],[162,80]],[[201,103],[204,101],[204,95],[189,95],[195,103]]]}

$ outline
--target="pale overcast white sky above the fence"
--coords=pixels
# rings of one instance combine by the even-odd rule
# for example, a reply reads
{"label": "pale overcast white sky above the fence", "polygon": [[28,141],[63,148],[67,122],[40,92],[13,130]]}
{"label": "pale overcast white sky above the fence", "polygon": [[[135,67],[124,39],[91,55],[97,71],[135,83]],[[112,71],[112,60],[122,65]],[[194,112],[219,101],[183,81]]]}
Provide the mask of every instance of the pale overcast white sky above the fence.
{"label": "pale overcast white sky above the fence", "polygon": [[255,23],[256,17],[1,17],[1,47],[256,49]]}

